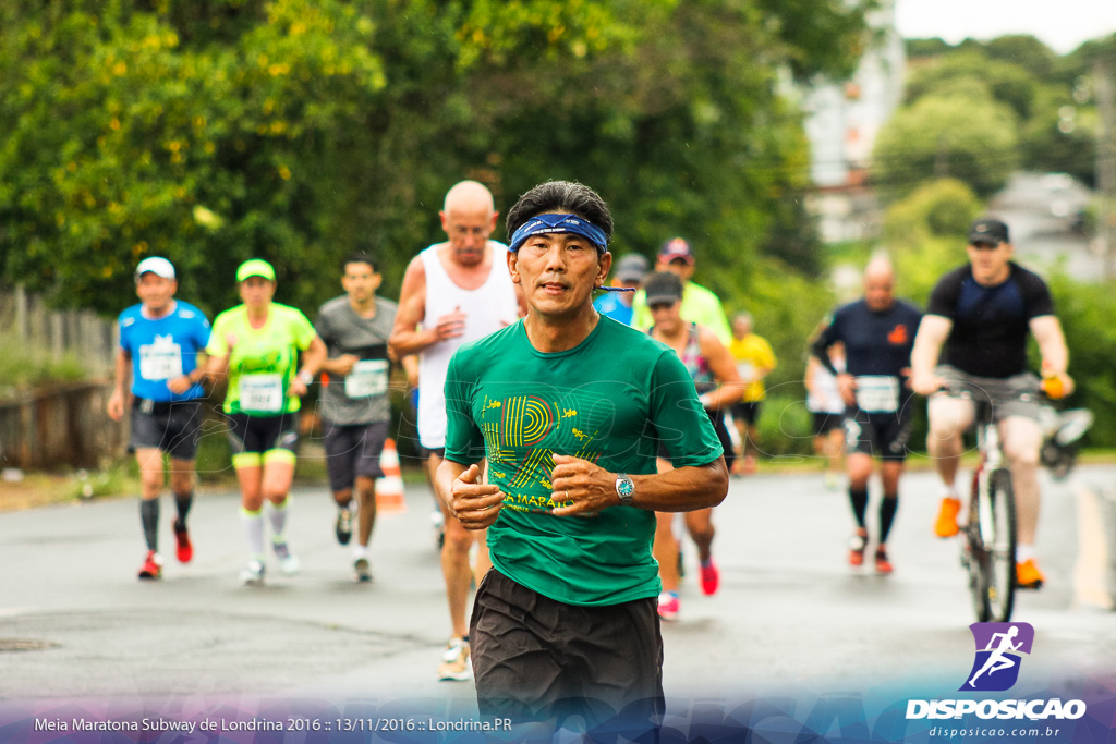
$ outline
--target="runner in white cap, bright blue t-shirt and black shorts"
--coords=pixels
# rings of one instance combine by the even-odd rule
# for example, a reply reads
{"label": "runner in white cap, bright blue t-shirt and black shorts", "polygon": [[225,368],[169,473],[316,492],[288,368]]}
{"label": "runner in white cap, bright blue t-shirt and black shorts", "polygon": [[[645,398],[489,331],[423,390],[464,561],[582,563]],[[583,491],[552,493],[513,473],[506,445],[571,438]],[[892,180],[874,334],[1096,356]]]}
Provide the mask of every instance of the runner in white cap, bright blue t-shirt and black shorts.
{"label": "runner in white cap, bright blue t-shirt and black shorts", "polygon": [[136,267],[136,294],[141,302],[119,317],[121,348],[116,355],[116,386],[108,399],[113,421],[124,417],[125,387],[132,378],[132,436],[128,447],[140,464],[140,518],[147,557],[141,579],[158,579],[158,494],[163,489],[163,453],[171,456],[171,491],[177,506],[174,520],[176,554],[186,563],[194,549],[186,531],[193,503],[194,457],[201,433],[201,381],[204,364],[199,355],[210,338],[210,323],[192,305],[174,299],[179,288],[174,267],[151,257]]}

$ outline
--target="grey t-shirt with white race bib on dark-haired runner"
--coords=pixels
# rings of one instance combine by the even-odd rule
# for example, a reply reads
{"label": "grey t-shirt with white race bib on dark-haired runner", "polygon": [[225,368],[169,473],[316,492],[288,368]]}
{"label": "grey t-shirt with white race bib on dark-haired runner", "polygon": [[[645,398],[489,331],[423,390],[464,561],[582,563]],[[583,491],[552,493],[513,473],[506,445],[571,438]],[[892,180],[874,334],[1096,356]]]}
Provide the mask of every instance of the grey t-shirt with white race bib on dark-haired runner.
{"label": "grey t-shirt with white race bib on dark-haired runner", "polygon": [[321,416],[327,421],[353,425],[391,417],[387,338],[397,309],[395,302],[377,297],[375,317],[362,318],[349,305],[347,294],[321,306],[314,327],[329,357],[352,354],[360,359],[346,377],[329,376],[329,385],[321,390]]}

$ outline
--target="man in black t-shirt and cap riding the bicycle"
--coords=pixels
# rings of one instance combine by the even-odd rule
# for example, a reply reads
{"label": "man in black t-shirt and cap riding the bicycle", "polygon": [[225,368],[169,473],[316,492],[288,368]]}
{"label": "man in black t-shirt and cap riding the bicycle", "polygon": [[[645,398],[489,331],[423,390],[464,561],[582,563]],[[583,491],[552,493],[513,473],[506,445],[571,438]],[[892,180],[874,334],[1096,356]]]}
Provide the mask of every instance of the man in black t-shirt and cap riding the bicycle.
{"label": "man in black t-shirt and cap riding the bicycle", "polygon": [[958,533],[961,502],[954,480],[961,435],[972,425],[974,412],[973,402],[955,393],[968,388],[991,403],[999,422],[1019,514],[1016,577],[1020,587],[1038,589],[1045,580],[1033,549],[1042,429],[1033,397],[1038,379],[1027,368],[1027,335],[1038,341],[1043,377],[1057,378],[1051,387],[1066,394],[1072,390],[1066,375],[1069,352],[1046,282],[1011,261],[1008,226],[989,218],[977,220],[968,251],[969,264],[934,287],[911,355],[912,386],[931,396],[926,448],[945,491],[934,531],[942,538]]}

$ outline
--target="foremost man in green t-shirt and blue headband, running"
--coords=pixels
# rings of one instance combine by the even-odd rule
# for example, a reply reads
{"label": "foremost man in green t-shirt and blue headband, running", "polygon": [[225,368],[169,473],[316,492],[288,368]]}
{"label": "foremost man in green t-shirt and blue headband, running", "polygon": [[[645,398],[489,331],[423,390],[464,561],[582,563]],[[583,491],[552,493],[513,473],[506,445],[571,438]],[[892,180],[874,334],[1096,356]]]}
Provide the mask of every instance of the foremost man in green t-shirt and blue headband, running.
{"label": "foremost man in green t-shirt and blue headband, running", "polygon": [[[470,624],[481,715],[588,725],[663,711],[656,511],[719,504],[721,444],[677,357],[602,317],[613,222],[590,189],[536,186],[508,215],[528,315],[463,346],[445,383],[439,497],[488,528]],[[655,473],[660,444],[676,470]],[[487,477],[479,463],[487,461]]]}

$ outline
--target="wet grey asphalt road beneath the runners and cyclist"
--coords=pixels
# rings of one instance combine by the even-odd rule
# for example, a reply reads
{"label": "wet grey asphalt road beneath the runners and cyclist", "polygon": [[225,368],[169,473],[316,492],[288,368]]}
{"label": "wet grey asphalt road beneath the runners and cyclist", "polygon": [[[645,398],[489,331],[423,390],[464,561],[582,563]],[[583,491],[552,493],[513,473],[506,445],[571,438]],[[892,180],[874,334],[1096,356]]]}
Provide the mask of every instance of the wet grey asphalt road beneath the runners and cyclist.
{"label": "wet grey asphalt road beneath the runners and cyclist", "polygon": [[[1023,671],[1033,685],[1116,678],[1116,624],[1080,601],[1088,571],[1078,548],[1079,492],[1108,487],[1114,476],[1112,467],[1093,467],[1067,483],[1046,482],[1039,554],[1048,586],[1021,597],[1014,617],[1036,628]],[[931,533],[936,500],[930,473],[906,476],[889,541],[896,570],[877,577],[845,563],[847,499],[827,491],[819,474],[734,480],[715,513],[721,591],[701,595],[691,544],[682,613],[663,628],[668,698],[864,693],[934,680],[956,689],[972,659],[973,618],[958,545]],[[199,497],[194,561],[171,557],[154,582],[135,578],[143,557],[135,499],[3,514],[0,708],[280,696],[413,698],[470,709],[470,684],[435,678],[449,625],[432,496],[408,486],[406,503],[405,513],[381,518],[375,581],[358,584],[333,535],[325,489],[297,491],[289,533],[304,570],[269,576],[260,588],[237,578],[246,545],[232,493]],[[170,511],[167,500],[166,552]],[[13,640],[44,648],[2,650]]]}

